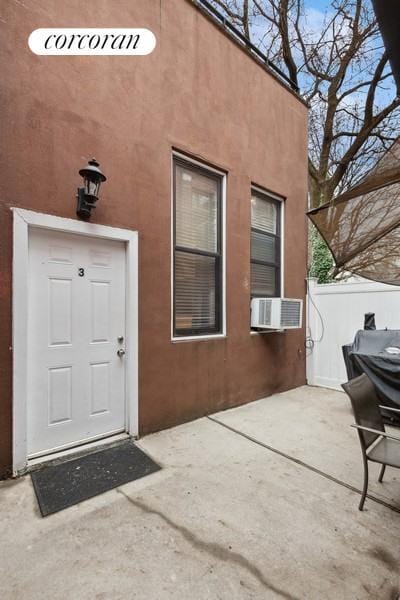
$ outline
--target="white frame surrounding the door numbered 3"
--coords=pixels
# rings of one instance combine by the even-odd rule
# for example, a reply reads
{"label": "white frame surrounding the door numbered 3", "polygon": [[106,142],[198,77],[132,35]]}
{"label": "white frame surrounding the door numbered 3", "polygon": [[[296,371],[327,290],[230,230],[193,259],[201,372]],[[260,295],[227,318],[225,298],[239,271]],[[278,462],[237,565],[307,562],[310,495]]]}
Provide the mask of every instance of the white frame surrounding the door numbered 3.
{"label": "white frame surrounding the door numbered 3", "polygon": [[86,223],[12,208],[13,239],[13,473],[28,466],[27,453],[27,359],[28,359],[28,265],[29,228],[125,242],[126,247],[126,369],[127,432],[137,437],[138,419],[138,232]]}

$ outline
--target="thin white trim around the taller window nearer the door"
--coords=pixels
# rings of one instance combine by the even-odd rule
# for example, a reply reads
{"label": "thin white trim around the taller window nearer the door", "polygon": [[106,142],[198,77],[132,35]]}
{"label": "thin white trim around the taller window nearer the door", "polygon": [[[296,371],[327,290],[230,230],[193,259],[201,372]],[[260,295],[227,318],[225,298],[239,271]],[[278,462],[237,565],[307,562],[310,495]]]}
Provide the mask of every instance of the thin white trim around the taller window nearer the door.
{"label": "thin white trim around the taller window nearer the door", "polygon": [[[174,157],[201,167],[210,173],[216,173],[221,177],[221,220],[222,220],[222,331],[207,335],[174,336]],[[215,340],[226,337],[226,194],[227,174],[224,171],[210,167],[207,163],[200,162],[194,158],[173,150],[171,153],[171,342],[194,342],[201,340]]]}

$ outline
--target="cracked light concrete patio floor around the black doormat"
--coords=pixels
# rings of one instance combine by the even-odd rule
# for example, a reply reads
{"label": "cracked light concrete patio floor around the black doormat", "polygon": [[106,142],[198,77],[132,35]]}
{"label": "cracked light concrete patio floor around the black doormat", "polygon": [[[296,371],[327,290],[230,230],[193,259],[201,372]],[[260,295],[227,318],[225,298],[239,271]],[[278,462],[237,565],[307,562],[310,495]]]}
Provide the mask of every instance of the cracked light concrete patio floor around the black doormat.
{"label": "cracked light concrete patio floor around the black doormat", "polygon": [[400,472],[379,484],[373,466],[357,510],[344,394],[211,419],[140,440],[160,472],[45,519],[29,476],[0,483],[2,600],[400,597]]}

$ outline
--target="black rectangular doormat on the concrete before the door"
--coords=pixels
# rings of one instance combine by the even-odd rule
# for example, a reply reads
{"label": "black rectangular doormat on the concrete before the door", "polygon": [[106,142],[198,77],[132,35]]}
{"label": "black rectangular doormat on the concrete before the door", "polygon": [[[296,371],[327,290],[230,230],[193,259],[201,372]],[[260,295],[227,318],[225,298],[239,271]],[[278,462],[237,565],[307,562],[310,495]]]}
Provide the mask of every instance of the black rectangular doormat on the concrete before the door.
{"label": "black rectangular doormat on the concrete before the door", "polygon": [[42,517],[68,508],[161,467],[131,440],[31,474]]}

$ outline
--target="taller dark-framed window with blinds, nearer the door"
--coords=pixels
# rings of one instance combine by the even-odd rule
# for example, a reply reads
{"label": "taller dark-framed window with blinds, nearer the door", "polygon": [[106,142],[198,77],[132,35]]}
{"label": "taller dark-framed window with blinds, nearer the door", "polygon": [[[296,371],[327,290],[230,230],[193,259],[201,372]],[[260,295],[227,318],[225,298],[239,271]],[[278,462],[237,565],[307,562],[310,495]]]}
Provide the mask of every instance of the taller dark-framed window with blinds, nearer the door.
{"label": "taller dark-framed window with blinds, nearer the door", "polygon": [[222,333],[222,176],[174,158],[174,335]]}

